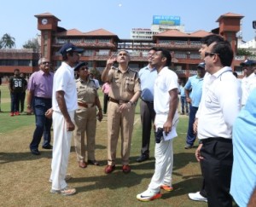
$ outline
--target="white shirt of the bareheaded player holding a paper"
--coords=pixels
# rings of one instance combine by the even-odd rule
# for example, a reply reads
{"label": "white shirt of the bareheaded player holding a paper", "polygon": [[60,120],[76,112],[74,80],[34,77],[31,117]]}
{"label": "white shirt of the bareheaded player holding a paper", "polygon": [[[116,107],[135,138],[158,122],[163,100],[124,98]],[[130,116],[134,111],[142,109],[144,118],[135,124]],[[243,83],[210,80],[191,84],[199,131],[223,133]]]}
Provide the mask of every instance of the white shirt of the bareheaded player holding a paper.
{"label": "white shirt of the bareheaded player holding a paper", "polygon": [[[158,74],[154,81],[154,111],[158,116],[158,123],[156,127],[163,127],[166,123],[166,118],[169,112],[170,100],[172,97],[169,91],[177,89],[177,74],[172,72],[168,67],[164,67]],[[173,124],[176,123],[178,118],[177,112],[173,118]]]}

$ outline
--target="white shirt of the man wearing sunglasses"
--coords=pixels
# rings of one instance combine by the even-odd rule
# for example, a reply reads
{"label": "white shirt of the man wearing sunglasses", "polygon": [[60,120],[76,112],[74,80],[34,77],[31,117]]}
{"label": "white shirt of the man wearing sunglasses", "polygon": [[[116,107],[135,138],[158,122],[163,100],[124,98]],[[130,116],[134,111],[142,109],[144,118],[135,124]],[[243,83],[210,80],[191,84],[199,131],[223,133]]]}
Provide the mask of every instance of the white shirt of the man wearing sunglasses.
{"label": "white shirt of the man wearing sunglasses", "polygon": [[205,77],[198,118],[198,138],[232,138],[232,127],[241,109],[240,83],[229,66]]}

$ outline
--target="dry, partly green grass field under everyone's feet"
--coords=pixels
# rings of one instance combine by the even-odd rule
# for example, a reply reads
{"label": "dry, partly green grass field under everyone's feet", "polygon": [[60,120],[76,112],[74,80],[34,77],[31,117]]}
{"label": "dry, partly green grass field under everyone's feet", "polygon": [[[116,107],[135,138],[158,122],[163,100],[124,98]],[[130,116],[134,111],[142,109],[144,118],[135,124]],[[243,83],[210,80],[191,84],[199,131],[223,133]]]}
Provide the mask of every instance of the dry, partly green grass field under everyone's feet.
{"label": "dry, partly green grass field under everyone's feet", "polygon": [[[188,117],[181,116],[177,127],[178,137],[173,144],[174,164],[172,184],[174,191],[162,191],[160,199],[151,202],[137,201],[137,193],[148,187],[154,173],[154,138],[150,145],[150,159],[138,164],[140,155],[141,124],[139,107],[131,143],[131,173],[121,171],[120,146],[117,151],[117,170],[104,173],[107,164],[107,117],[97,123],[96,159],[102,166],[89,165],[79,168],[72,144],[68,173],[73,179],[68,181],[78,193],[63,197],[49,193],[51,151],[39,147],[40,156],[29,151],[34,130],[34,116],[9,117],[9,92],[6,85],[2,90],[3,112],[0,112],[0,206],[207,206],[206,203],[191,201],[188,193],[201,187],[201,170],[195,160],[195,148],[185,150],[185,135]],[[101,99],[102,93],[100,92]]]}

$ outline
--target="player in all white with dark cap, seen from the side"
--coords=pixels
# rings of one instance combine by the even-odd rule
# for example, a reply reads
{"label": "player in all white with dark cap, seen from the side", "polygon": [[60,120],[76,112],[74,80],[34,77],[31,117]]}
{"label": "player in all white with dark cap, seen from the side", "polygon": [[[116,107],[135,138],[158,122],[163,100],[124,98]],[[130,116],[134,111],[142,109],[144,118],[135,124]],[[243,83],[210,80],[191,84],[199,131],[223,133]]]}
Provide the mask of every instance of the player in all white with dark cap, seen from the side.
{"label": "player in all white with dark cap, seen from the side", "polygon": [[52,152],[51,193],[73,195],[75,188],[67,186],[65,181],[68,157],[73,135],[74,112],[78,108],[76,84],[73,67],[79,63],[79,53],[83,49],[76,48],[72,43],[65,43],[60,49],[61,66],[55,72],[53,83],[52,109],[54,147]]}

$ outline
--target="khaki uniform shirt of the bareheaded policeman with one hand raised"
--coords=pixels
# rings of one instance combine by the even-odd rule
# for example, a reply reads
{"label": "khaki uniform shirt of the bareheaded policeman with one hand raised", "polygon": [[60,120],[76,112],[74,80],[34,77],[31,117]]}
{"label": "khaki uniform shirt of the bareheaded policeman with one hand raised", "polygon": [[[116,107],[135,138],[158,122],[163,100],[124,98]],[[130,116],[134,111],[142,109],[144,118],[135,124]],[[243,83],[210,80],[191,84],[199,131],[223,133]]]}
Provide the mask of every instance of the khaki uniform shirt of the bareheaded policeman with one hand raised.
{"label": "khaki uniform shirt of the bareheaded policeman with one hand raised", "polygon": [[119,69],[110,69],[108,80],[111,84],[108,95],[118,101],[130,101],[132,96],[141,90],[138,73],[129,67],[124,73]]}

